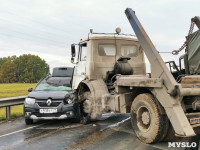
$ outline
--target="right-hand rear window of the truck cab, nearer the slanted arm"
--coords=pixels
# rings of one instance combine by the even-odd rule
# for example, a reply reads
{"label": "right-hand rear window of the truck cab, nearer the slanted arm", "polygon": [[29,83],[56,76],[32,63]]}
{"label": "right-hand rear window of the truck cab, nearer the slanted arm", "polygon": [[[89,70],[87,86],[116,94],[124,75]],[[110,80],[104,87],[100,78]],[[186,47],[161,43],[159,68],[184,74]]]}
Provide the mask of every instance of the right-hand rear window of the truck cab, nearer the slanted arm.
{"label": "right-hand rear window of the truck cab, nearer the slanted arm", "polygon": [[137,53],[138,53],[137,46],[135,46],[135,45],[121,46],[122,56],[135,57],[135,56],[137,56]]}

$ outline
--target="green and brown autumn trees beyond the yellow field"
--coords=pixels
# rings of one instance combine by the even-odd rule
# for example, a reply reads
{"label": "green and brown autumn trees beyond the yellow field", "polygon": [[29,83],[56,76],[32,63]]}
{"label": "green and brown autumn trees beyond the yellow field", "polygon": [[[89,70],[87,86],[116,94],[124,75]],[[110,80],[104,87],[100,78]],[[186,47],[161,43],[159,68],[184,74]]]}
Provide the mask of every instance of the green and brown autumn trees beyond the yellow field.
{"label": "green and brown autumn trees beyond the yellow field", "polygon": [[0,83],[36,83],[48,73],[49,65],[36,55],[0,58]]}

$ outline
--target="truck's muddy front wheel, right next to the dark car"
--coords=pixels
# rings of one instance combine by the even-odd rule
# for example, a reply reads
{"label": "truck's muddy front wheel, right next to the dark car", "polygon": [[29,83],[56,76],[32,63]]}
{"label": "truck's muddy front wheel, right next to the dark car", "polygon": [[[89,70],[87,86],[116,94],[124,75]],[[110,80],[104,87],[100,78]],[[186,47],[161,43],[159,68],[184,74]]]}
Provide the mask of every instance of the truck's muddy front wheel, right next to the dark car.
{"label": "truck's muddy front wheel, right next to the dark car", "polygon": [[88,124],[90,122],[90,114],[91,114],[91,101],[90,101],[90,92],[83,93],[83,100],[80,103],[80,112],[81,118],[80,122],[82,124]]}

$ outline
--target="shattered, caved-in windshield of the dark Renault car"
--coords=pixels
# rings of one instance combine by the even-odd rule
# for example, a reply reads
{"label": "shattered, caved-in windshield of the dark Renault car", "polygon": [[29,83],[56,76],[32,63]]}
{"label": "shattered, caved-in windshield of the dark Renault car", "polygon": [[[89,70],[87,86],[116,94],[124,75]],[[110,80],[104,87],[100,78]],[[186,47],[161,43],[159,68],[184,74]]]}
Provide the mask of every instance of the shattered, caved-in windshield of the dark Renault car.
{"label": "shattered, caved-in windshield of the dark Renault car", "polygon": [[55,83],[47,82],[46,79],[43,79],[36,87],[35,91],[69,91],[71,87],[58,85]]}

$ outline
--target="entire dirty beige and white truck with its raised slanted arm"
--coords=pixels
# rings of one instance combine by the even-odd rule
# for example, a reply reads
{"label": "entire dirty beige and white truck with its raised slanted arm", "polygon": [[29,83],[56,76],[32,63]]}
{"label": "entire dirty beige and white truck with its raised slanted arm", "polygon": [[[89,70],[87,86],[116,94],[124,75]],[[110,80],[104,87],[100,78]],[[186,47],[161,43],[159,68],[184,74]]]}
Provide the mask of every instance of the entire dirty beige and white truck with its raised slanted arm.
{"label": "entire dirty beige and white truck with its raised slanted arm", "polygon": [[[88,36],[78,44],[72,88],[78,91],[83,119],[130,113],[134,132],[145,143],[164,140],[170,130],[195,136],[194,128],[200,126],[199,75],[176,82],[135,13],[129,8],[125,13],[137,39],[118,33]],[[151,74],[146,74],[144,53]]]}

